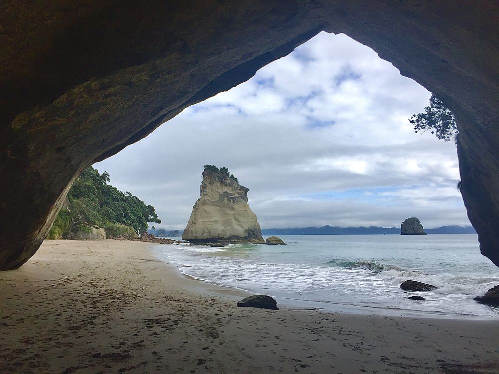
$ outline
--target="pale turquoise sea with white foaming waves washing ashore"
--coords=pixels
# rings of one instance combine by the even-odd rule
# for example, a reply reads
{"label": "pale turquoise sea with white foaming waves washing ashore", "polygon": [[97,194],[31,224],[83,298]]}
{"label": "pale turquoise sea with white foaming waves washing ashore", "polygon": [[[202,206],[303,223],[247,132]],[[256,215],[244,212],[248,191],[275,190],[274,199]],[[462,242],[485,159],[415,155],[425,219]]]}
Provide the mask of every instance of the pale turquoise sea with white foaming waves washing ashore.
{"label": "pale turquoise sea with white foaming waves washing ashore", "polygon": [[[264,237],[265,238],[265,237]],[[158,246],[165,261],[213,284],[267,294],[287,306],[381,315],[498,318],[473,300],[499,284],[476,234],[296,235],[287,245]],[[412,279],[437,287],[406,292]],[[421,295],[426,301],[408,300]]]}

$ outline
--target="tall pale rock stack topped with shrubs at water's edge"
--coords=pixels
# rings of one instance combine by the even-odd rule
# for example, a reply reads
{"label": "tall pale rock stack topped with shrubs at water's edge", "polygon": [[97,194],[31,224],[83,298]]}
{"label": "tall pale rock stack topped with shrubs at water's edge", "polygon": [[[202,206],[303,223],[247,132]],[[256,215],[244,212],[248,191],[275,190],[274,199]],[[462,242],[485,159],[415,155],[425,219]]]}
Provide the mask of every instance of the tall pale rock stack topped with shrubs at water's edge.
{"label": "tall pale rock stack topped with shrubs at water's edge", "polygon": [[182,239],[191,243],[264,243],[247,187],[218,171],[205,169],[201,197],[192,209]]}

